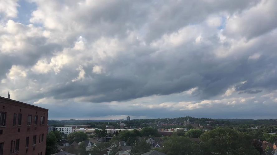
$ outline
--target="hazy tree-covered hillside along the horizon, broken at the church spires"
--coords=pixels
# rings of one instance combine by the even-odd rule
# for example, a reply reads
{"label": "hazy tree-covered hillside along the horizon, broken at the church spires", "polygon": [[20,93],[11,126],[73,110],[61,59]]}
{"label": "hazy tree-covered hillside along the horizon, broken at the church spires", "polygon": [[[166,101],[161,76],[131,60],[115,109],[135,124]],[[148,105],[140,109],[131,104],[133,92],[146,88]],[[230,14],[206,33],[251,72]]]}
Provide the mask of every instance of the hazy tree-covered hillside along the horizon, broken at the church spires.
{"label": "hazy tree-covered hillside along the horizon, broken at the church spires", "polygon": [[[262,126],[262,125],[277,125],[276,119],[211,119],[211,118],[195,118],[189,117],[190,122],[199,123],[201,125],[212,126],[230,126],[230,125],[250,125],[250,126]],[[91,125],[100,126],[101,124],[113,124],[116,125],[120,120],[48,120],[48,124],[52,126],[64,126],[64,125]],[[145,127],[145,126],[161,126],[162,124],[174,124],[175,127],[183,125],[184,117],[177,118],[157,118],[157,119],[133,119],[129,122],[123,120],[127,126],[132,127]]]}

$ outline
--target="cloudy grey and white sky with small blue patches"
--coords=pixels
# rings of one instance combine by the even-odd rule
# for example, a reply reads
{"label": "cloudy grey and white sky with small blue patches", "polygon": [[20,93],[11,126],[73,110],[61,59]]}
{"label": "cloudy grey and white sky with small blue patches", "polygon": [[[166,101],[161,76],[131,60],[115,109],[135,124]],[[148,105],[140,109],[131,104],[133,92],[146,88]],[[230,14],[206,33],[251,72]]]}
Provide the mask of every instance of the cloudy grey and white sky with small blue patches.
{"label": "cloudy grey and white sky with small blue patches", "polygon": [[0,0],[0,96],[48,119],[277,118],[275,0]]}

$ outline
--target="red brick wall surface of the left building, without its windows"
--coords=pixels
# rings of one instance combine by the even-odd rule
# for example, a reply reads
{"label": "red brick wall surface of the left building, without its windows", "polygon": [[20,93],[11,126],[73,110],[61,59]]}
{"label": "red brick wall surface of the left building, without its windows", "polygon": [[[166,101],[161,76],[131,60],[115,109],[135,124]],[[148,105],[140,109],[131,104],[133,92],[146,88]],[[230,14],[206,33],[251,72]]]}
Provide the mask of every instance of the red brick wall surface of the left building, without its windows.
{"label": "red brick wall surface of the left building, without its windows", "polygon": [[[5,108],[3,108],[5,106]],[[20,111],[21,110],[21,111]],[[6,112],[6,126],[0,127],[3,133],[0,135],[0,143],[4,143],[3,155],[45,155],[48,110],[29,104],[0,97],[0,112]],[[13,126],[13,114],[17,114],[16,125]],[[22,114],[21,126],[18,126],[18,114]],[[27,117],[32,115],[32,124],[27,126]],[[35,125],[35,115],[38,116],[38,125]],[[40,125],[40,117],[45,117],[44,125]],[[30,131],[27,131],[30,128]],[[36,128],[36,129],[35,129]],[[18,132],[20,129],[20,132]],[[39,137],[44,134],[44,141],[39,142]],[[36,135],[36,145],[33,145],[33,135]],[[29,147],[26,148],[26,137],[29,137]],[[11,141],[20,139],[19,151],[10,153]],[[35,150],[33,150],[35,148]],[[26,153],[28,149],[28,153]]]}

